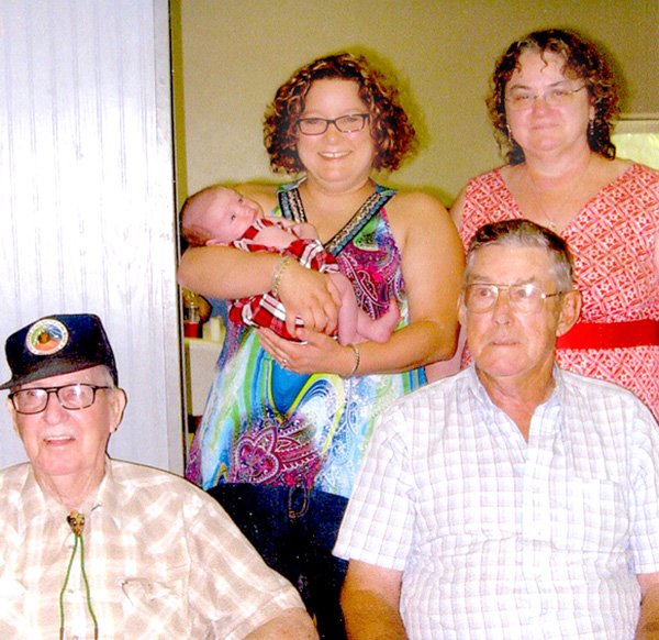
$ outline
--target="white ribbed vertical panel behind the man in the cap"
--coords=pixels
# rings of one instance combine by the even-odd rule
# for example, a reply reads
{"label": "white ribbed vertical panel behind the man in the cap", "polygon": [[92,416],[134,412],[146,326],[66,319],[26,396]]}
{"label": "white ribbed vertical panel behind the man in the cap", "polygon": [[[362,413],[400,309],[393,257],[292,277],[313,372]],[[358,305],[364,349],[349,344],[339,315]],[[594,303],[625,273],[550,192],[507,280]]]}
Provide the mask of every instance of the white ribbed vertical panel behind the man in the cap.
{"label": "white ribbed vertical panel behind the man in the cap", "polygon": [[111,453],[180,472],[169,69],[167,0],[0,3],[0,343],[98,313],[129,394]]}

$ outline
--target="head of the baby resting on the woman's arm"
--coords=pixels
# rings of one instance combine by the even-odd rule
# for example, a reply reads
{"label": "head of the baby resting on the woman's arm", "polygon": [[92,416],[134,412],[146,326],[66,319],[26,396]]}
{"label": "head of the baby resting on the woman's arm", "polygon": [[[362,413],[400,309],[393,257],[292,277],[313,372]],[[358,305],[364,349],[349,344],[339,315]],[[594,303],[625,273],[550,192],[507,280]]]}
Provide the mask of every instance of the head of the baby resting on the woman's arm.
{"label": "head of the baby resting on the woman's arm", "polygon": [[227,244],[242,238],[263,209],[228,187],[212,186],[190,196],[181,208],[181,232],[190,246]]}

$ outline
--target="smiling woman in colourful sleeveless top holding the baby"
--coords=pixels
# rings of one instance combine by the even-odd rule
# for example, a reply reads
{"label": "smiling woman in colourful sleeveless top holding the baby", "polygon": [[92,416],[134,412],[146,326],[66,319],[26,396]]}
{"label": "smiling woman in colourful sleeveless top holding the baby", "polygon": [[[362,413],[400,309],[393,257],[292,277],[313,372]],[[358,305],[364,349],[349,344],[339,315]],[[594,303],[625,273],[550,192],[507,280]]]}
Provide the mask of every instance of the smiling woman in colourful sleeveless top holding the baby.
{"label": "smiling woman in colourful sleeveless top holding the baby", "polygon": [[264,211],[313,224],[371,318],[398,305],[386,343],[334,340],[332,280],[291,258],[206,246],[186,252],[179,272],[213,298],[276,293],[302,341],[230,324],[188,477],[299,587],[324,638],[344,636],[345,563],[332,548],[375,419],[456,347],[463,258],[450,217],[433,197],[371,177],[396,169],[414,142],[382,74],[364,57],[323,57],[295,71],[266,112],[271,166],[297,179],[238,187]]}

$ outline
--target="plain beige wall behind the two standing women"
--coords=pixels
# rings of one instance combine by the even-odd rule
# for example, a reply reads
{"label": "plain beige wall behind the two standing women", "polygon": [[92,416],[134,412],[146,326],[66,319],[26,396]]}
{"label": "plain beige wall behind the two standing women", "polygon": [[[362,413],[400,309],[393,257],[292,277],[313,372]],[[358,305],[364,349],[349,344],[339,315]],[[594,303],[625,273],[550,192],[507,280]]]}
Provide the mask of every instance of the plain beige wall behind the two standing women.
{"label": "plain beige wall behind the two standing women", "polygon": [[172,22],[179,196],[272,179],[266,103],[295,68],[344,48],[390,64],[422,114],[423,147],[389,184],[447,203],[500,163],[483,97],[495,57],[530,30],[603,44],[624,70],[624,110],[659,118],[657,0],[176,0]]}

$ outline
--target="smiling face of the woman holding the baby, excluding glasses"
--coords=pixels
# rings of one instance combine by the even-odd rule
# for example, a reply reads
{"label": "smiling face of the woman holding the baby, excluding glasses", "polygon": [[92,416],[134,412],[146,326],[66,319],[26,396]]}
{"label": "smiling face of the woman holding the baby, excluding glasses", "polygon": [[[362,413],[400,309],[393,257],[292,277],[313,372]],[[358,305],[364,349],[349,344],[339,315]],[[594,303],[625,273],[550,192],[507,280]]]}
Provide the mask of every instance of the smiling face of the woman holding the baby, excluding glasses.
{"label": "smiling face of the woman holding the baby, excluding glasses", "polygon": [[[316,80],[304,99],[301,118],[334,120],[354,113],[368,113],[351,80]],[[361,131],[342,133],[334,124],[321,135],[298,132],[298,154],[309,180],[328,190],[349,190],[368,180],[376,147],[368,122]]]}

